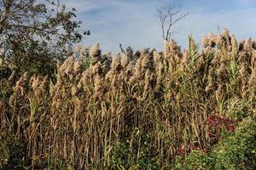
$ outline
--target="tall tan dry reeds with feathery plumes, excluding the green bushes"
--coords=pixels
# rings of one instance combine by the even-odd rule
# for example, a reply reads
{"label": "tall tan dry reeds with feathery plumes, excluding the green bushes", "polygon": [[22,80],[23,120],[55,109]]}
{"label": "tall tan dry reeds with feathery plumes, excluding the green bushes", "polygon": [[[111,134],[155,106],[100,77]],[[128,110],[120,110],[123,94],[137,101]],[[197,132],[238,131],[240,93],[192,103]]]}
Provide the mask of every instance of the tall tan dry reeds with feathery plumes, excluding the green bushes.
{"label": "tall tan dry reeds with feathery plumes, excluding the green bushes", "polygon": [[25,139],[28,157],[85,169],[108,167],[123,140],[138,160],[141,133],[135,140],[134,129],[148,134],[154,146],[149,152],[159,165],[189,144],[209,148],[207,117],[225,116],[232,99],[255,98],[256,42],[236,42],[225,30],[204,37],[202,44],[200,51],[189,37],[183,53],[171,41],[163,53],[130,49],[113,59],[96,44],[90,54],[77,48],[82,57],[73,54],[57,65],[55,81],[24,74],[4,90],[7,80],[2,80],[1,131]]}

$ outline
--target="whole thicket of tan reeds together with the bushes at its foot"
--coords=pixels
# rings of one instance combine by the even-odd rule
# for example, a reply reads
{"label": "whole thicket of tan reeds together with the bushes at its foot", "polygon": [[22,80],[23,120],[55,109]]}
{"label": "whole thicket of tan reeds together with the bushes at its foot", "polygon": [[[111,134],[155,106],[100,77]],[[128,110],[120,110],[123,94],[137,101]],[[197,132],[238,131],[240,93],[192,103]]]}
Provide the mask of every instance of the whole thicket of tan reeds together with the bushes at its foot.
{"label": "whole thicket of tan reeds together with the bushes at its foot", "polygon": [[1,169],[255,169],[256,42],[227,30],[0,81]]}

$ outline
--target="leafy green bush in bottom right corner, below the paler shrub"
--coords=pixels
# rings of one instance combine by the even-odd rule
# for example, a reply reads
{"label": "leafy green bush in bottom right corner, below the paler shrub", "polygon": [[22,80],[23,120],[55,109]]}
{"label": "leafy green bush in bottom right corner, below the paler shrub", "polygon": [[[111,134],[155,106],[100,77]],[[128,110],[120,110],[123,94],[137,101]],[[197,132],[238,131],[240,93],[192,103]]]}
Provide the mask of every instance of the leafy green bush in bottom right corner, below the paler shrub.
{"label": "leafy green bush in bottom right corner, below the paler shrub", "polygon": [[227,134],[212,154],[216,169],[256,168],[256,122],[246,118],[239,123],[235,133]]}

